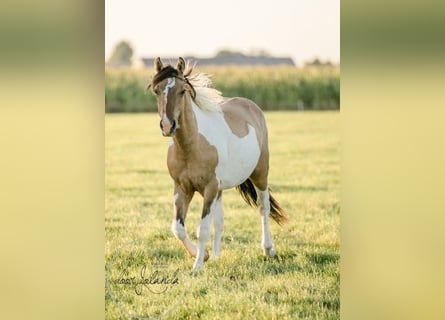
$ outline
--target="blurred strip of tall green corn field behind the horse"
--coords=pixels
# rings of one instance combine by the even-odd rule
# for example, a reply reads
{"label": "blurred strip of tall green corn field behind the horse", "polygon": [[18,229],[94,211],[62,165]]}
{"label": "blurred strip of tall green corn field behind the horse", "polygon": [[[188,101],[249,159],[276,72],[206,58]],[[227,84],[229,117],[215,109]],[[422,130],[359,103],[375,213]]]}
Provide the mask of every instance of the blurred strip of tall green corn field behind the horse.
{"label": "blurred strip of tall green corn field behind the horse", "polygon": [[[263,110],[338,110],[339,67],[202,67],[225,97],[245,97]],[[145,92],[153,69],[105,70],[105,110],[155,112],[156,100]]]}

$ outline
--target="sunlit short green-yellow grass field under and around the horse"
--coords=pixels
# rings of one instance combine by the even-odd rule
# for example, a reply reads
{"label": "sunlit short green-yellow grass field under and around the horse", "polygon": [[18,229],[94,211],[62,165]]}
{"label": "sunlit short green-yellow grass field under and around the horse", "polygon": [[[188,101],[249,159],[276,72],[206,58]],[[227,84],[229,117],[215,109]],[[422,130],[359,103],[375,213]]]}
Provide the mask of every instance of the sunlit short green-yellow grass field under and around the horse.
{"label": "sunlit short green-yellow grass field under and around the horse", "polygon": [[[339,113],[266,119],[270,187],[290,216],[284,227],[271,223],[279,257],[262,256],[258,212],[227,190],[221,258],[191,275],[193,260],[170,231],[169,139],[158,115],[106,115],[106,319],[340,318]],[[201,201],[196,194],[186,221],[194,241]],[[128,280],[154,274],[177,281]]]}

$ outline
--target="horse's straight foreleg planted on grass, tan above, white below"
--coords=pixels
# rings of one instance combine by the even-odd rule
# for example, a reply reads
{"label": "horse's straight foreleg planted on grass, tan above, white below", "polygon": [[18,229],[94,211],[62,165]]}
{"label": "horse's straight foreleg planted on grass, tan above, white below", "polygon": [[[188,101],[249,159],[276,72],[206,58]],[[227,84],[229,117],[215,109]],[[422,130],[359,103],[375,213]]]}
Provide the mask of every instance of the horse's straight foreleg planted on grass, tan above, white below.
{"label": "horse's straight foreleg planted on grass, tan above, white below", "polygon": [[204,261],[209,258],[209,254],[205,247],[210,238],[210,224],[217,206],[218,191],[215,189],[216,188],[209,187],[204,191],[204,206],[202,208],[201,221],[199,222],[197,230],[198,247],[195,263],[193,264],[193,271],[201,269],[204,265]]}

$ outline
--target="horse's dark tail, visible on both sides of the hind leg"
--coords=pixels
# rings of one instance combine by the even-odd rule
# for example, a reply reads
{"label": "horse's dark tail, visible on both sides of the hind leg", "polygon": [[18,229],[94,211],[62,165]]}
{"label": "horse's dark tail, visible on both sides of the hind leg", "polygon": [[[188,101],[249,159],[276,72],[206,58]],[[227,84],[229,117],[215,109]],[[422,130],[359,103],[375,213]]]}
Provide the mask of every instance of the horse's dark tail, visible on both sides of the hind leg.
{"label": "horse's dark tail, visible on both sides of the hind leg", "polygon": [[[241,183],[239,186],[236,187],[238,192],[243,197],[244,201],[247,202],[248,205],[250,205],[253,208],[258,208],[257,203],[257,194],[255,187],[253,186],[252,181],[250,179],[247,179],[243,183]],[[272,197],[272,194],[270,193],[269,189],[269,202],[270,202],[270,217],[275,220],[276,223],[278,223],[280,226],[283,225],[288,221],[288,215],[286,211],[284,211],[283,208],[281,208],[280,204],[277,200],[275,200],[274,197]]]}

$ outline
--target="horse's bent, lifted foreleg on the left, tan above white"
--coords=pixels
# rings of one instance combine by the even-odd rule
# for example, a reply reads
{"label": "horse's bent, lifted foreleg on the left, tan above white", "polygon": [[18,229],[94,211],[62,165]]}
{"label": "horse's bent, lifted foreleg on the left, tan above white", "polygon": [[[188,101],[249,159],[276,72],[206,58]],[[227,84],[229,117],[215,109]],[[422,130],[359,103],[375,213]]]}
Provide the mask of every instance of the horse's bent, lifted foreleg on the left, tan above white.
{"label": "horse's bent, lifted foreleg on the left, tan above white", "polygon": [[172,232],[175,237],[181,241],[188,254],[195,257],[196,246],[190,241],[187,232],[185,231],[185,219],[192,197],[193,194],[186,194],[179,187],[175,188],[175,195],[173,197]]}

